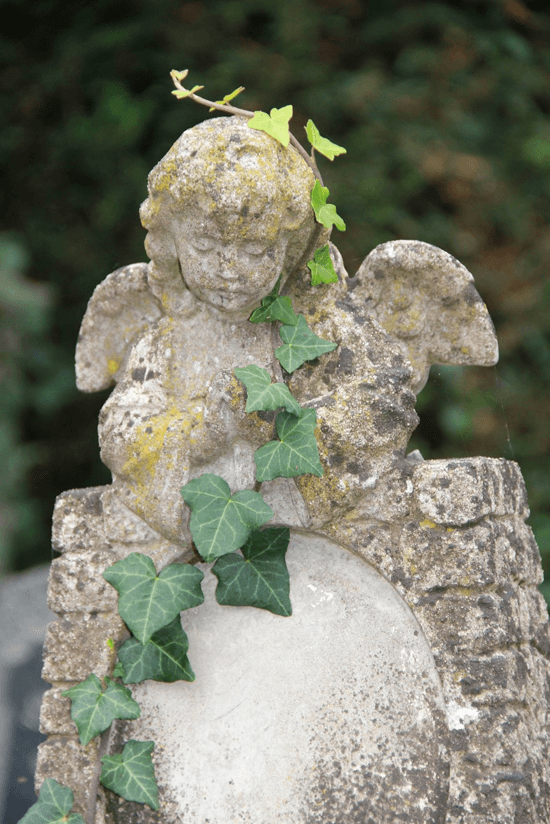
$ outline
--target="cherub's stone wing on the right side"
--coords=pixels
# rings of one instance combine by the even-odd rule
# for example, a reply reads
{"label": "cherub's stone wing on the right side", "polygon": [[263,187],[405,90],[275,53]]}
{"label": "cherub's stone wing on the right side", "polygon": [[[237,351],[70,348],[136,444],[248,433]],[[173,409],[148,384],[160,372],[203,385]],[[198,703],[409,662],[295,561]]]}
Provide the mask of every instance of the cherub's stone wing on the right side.
{"label": "cherub's stone wing on the right side", "polygon": [[418,394],[431,364],[494,366],[495,330],[470,272],[417,240],[377,246],[355,277],[352,299],[397,340],[413,365]]}

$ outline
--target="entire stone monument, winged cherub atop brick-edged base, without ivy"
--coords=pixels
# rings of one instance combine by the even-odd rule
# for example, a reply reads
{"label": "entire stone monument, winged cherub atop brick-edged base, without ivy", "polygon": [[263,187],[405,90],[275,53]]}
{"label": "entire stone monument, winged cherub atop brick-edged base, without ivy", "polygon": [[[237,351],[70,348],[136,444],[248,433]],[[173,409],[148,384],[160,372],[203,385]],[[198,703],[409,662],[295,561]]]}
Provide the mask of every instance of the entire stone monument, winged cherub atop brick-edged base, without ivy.
{"label": "entire stone monument, winged cherub atop brick-edged base, without ivy", "polygon": [[[90,300],[77,382],[114,387],[99,427],[113,482],[56,503],[37,786],[70,787],[86,824],[543,824],[550,627],[521,473],[407,455],[430,365],[496,362],[487,309],[455,258],[417,241],[382,244],[353,278],[330,244],[338,282],[313,288],[306,263],[328,242],[314,181],[244,117],[200,124],[149,177],[151,262]],[[292,374],[276,325],[248,321],[277,283],[336,344]],[[322,475],[256,479],[278,430],[246,412],[235,369],[252,363],[315,412]],[[294,614],[221,607],[205,579],[182,616],[196,682],[133,686],[140,720],[83,745],[63,693],[112,674],[128,637],[103,572],[135,552],[157,572],[196,564],[180,489],[206,473],[291,527]],[[158,812],[99,782],[129,735],[157,742]]]}

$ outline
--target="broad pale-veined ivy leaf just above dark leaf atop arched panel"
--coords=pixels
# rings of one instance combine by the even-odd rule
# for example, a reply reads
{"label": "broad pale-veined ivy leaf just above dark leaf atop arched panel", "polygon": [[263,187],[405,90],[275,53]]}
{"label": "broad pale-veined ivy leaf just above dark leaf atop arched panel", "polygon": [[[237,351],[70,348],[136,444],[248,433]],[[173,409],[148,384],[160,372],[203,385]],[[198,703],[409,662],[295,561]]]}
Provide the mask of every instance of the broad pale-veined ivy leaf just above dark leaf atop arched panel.
{"label": "broad pale-veined ivy leaf just above dark leaf atop arched panel", "polygon": [[205,561],[239,549],[253,529],[273,517],[258,492],[245,489],[231,495],[223,478],[210,472],[189,481],[181,494],[191,507],[191,534]]}

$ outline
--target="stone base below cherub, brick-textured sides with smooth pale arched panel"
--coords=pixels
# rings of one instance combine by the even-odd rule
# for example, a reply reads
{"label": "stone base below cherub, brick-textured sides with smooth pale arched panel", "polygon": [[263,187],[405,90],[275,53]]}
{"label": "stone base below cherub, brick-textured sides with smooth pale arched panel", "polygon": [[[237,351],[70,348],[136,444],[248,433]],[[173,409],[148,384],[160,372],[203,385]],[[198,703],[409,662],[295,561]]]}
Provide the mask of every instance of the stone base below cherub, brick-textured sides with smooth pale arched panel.
{"label": "stone base below cherub, brick-textured sides with smooth pale arched panel", "polygon": [[[546,824],[550,632],[518,467],[411,461],[402,491],[387,524],[293,533],[291,618],[221,607],[206,579],[182,615],[196,682],[133,687],[141,720],[87,747],[60,692],[108,674],[106,639],[126,637],[103,569],[181,548],[113,521],[109,487],[60,496],[38,781],[71,786],[83,812],[97,794],[95,824]],[[100,748],[129,737],[157,741],[160,817],[98,786]]]}

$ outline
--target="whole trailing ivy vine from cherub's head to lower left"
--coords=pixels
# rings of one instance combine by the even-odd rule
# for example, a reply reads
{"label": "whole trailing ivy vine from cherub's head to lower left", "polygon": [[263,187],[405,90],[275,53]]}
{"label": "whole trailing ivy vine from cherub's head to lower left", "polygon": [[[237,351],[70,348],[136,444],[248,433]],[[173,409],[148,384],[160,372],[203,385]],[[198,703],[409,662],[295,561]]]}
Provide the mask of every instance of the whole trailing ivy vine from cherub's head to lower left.
{"label": "whole trailing ivy vine from cherub's head to lower left", "polygon": [[[173,70],[170,74],[176,86],[172,94],[178,99],[188,97],[207,106],[209,111],[244,116],[249,119],[250,128],[265,132],[285,147],[289,143],[294,146],[316,178],[311,191],[316,221],[327,229],[335,226],[345,230],[336,207],[327,203],[329,190],[323,185],[315,160],[316,151],[333,160],[346,152],[342,146],[322,137],[309,120],[306,134],[311,152],[308,154],[290,133],[292,106],[271,109],[269,114],[249,112],[231,103],[244,91],[242,86],[222,100],[211,101],[197,95],[202,86],[183,87],[187,71]],[[338,281],[328,244],[315,251],[307,266],[314,286]],[[290,298],[279,294],[281,278],[252,312],[249,321],[280,324],[282,343],[275,349],[275,357],[287,373],[292,373],[306,361],[331,352],[337,344],[315,335],[304,316],[294,312]],[[293,478],[306,473],[321,476],[315,410],[302,408],[286,384],[272,383],[267,370],[259,366],[252,364],[236,368],[234,372],[247,391],[246,412],[280,410],[275,421],[278,438],[261,446],[254,456],[257,481]],[[214,562],[211,571],[218,579],[218,603],[291,615],[290,580],[285,562],[290,530],[288,527],[261,528],[273,517],[273,510],[261,494],[242,490],[231,495],[227,482],[211,473],[189,481],[181,494],[191,509],[190,530],[197,551],[204,561]],[[120,646],[111,678],[102,681],[92,673],[63,692],[71,699],[71,717],[83,745],[101,735],[115,719],[140,717],[139,705],[123,684],[195,680],[180,613],[204,601],[201,589],[204,573],[190,564],[173,563],[157,574],[149,556],[132,552],[108,567],[103,577],[118,592],[118,612],[132,637]],[[111,639],[107,643],[114,648]],[[101,784],[122,798],[157,810],[153,749],[153,741],[130,740],[122,753],[103,756]],[[73,801],[70,789],[49,778],[40,790],[38,801],[19,824],[85,824],[81,815],[71,813]]]}

